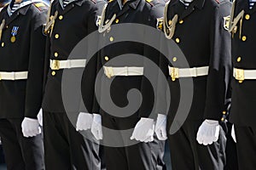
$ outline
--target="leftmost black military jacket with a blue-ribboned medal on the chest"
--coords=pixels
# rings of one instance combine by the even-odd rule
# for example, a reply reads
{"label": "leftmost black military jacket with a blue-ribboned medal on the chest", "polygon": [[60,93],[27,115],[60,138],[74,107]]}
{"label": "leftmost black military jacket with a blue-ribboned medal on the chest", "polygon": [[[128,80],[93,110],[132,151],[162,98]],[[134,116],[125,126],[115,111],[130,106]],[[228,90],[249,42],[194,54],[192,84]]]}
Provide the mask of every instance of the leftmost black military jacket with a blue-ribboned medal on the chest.
{"label": "leftmost black military jacket with a blue-ribboned medal on the chest", "polygon": [[[40,1],[28,1],[11,16],[9,6],[1,11],[0,22],[5,20],[5,25],[0,71],[28,71],[28,77],[27,80],[0,81],[0,118],[36,118],[41,108],[45,42],[42,31],[47,8]],[[15,30],[14,40],[12,31]]]}

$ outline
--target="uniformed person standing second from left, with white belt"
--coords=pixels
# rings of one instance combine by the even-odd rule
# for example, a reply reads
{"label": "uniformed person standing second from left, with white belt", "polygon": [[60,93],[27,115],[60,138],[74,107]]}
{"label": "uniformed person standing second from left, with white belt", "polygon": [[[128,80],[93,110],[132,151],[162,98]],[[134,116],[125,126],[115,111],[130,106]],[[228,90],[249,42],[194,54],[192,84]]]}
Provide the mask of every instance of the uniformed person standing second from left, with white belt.
{"label": "uniformed person standing second from left, with white belt", "polygon": [[[84,54],[69,57],[84,37],[97,30],[99,2],[55,0],[51,4],[44,30],[48,37],[42,105],[46,169],[101,169],[99,144],[90,132],[85,132],[89,133],[86,138],[78,132],[84,130],[83,122],[92,120],[91,114],[80,110],[82,100],[75,91],[80,86],[77,77],[81,77],[81,70],[87,64],[86,50]],[[88,44],[84,48],[86,46]],[[69,83],[73,89],[66,88]],[[65,103],[66,97],[68,103]]]}

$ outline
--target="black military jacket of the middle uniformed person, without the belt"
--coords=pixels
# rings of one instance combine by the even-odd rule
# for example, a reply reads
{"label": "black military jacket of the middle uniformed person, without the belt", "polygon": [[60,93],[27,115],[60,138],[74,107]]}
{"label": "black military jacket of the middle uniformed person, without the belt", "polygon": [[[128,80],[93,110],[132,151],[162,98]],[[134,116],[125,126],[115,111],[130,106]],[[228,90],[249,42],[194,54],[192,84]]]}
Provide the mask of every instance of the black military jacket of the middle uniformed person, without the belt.
{"label": "black military jacket of the middle uniformed person, without the belt", "polygon": [[[156,65],[158,65],[160,52],[154,50],[154,48],[148,47],[143,43],[143,41],[145,41],[147,37],[153,35],[143,35],[141,32],[143,32],[145,28],[143,28],[142,30],[138,30],[135,29],[135,27],[134,29],[132,27],[130,30],[125,29],[124,31],[122,29],[122,24],[128,24],[129,26],[131,26],[131,24],[141,24],[144,26],[151,26],[156,30],[157,19],[163,16],[164,4],[165,2],[163,1],[147,2],[145,0],[131,0],[126,2],[125,5],[121,8],[120,2],[118,2],[117,0],[110,1],[104,15],[105,20],[102,20],[102,23],[108,23],[108,21],[113,18],[114,14],[116,14],[116,17],[113,20],[110,28],[100,34],[100,42],[111,42],[111,44],[103,44],[103,48],[99,51],[98,67],[102,68],[103,66],[136,66],[143,67],[145,73],[150,68],[147,68],[147,65],[144,65],[144,58],[151,59]],[[119,26],[119,29],[113,31],[113,26]],[[131,35],[133,35],[136,37],[140,37],[142,42],[133,42],[132,40],[122,41],[119,35],[127,35],[127,37],[131,37]],[[117,40],[119,42],[117,42]],[[156,38],[155,41],[158,41],[158,39]],[[132,54],[138,54],[140,55],[140,58],[134,59],[134,56]],[[124,55],[124,58],[118,59],[121,55]],[[107,85],[109,84],[109,82],[111,82],[110,88],[108,88]],[[100,111],[94,109],[94,111],[100,112],[102,116],[106,116],[108,114],[108,116],[130,118],[148,116],[153,118],[155,117],[156,112],[153,111],[154,89],[152,88],[152,85],[147,78],[143,76],[117,76],[108,78],[106,75],[102,75],[100,87],[101,88],[98,88],[96,90],[100,91],[100,99],[98,99],[97,101],[98,103],[100,103],[101,109]],[[130,109],[127,109],[131,105],[131,103],[129,104],[129,102],[131,101],[127,99],[127,94],[132,88],[140,91],[140,93],[142,94],[142,100],[137,103],[135,102],[135,105],[131,106]],[[110,94],[110,97],[108,96],[108,93]],[[140,96],[138,96],[137,99],[139,100]],[[113,101],[114,106],[108,105],[108,101]],[[108,111],[106,110],[107,107]],[[115,107],[119,109],[126,108],[126,110],[118,111],[114,109]]]}

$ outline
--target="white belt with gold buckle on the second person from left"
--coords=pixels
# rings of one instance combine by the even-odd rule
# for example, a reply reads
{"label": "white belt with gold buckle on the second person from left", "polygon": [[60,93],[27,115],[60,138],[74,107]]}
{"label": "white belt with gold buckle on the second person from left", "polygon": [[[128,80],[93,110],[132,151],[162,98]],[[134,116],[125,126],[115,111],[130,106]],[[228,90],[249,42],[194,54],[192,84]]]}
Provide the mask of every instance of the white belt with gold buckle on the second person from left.
{"label": "white belt with gold buckle on the second person from left", "polygon": [[67,60],[49,59],[49,67],[51,68],[51,70],[85,67],[85,64],[86,64],[86,59],[67,59]]}

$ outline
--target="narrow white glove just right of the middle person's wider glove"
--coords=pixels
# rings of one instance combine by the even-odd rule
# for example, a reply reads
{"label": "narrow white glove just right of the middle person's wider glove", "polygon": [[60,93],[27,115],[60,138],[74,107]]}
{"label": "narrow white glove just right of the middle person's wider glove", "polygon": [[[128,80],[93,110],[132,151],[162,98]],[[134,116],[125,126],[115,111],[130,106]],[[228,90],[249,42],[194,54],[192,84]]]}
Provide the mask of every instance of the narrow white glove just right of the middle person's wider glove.
{"label": "narrow white glove just right of the middle person's wider glove", "polygon": [[156,134],[157,138],[160,140],[167,139],[166,123],[167,123],[166,115],[158,114],[156,123],[155,123],[154,133]]}

